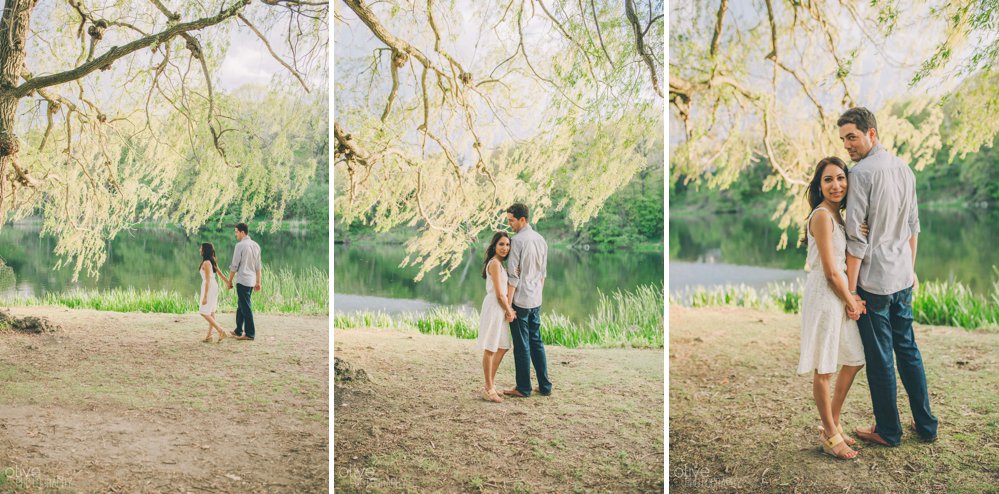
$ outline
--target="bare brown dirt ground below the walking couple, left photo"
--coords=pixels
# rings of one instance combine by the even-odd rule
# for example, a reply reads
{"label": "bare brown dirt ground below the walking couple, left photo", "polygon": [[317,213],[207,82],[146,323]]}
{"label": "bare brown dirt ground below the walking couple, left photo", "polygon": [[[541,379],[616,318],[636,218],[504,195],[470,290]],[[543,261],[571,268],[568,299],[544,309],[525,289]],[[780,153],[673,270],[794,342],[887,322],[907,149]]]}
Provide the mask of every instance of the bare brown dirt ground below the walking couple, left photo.
{"label": "bare brown dirt ground below the walking couple, left photo", "polygon": [[11,312],[61,329],[0,332],[0,492],[328,490],[327,317]]}

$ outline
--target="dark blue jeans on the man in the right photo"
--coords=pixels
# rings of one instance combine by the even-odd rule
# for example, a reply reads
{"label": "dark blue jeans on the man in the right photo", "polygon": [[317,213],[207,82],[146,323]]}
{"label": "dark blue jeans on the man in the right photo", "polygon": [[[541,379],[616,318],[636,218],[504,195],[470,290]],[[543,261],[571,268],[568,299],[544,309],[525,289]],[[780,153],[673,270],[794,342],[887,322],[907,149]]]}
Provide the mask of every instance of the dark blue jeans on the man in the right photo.
{"label": "dark blue jeans on the man in the right photo", "polygon": [[[937,418],[930,412],[930,394],[926,387],[923,358],[912,333],[912,288],[891,295],[877,295],[857,288],[867,303],[867,314],[860,316],[860,339],[864,342],[867,360],[867,384],[871,389],[871,404],[875,432],[893,446],[902,441],[902,424],[898,419],[898,393],[895,366],[909,395],[909,408],[916,420],[916,432],[929,439],[937,435]],[[894,352],[894,359],[892,358]]]}

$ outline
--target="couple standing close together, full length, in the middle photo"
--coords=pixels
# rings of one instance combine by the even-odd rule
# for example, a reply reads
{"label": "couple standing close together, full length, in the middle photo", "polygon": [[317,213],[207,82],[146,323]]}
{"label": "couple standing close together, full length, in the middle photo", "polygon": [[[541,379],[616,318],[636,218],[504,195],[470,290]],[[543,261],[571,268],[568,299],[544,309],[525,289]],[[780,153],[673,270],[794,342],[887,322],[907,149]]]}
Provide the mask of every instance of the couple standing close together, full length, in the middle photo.
{"label": "couple standing close together, full length, in the middle photo", "polygon": [[[537,375],[534,391],[548,396],[548,359],[541,341],[541,292],[548,272],[548,244],[528,222],[527,206],[517,203],[506,210],[507,224],[514,236],[497,232],[489,242],[482,277],[486,297],[479,316],[476,348],[482,350],[485,386],[482,398],[502,403],[496,391],[496,370],[513,343],[517,385],[503,391],[506,396],[531,396],[531,364]],[[506,268],[503,262],[506,261]]]}

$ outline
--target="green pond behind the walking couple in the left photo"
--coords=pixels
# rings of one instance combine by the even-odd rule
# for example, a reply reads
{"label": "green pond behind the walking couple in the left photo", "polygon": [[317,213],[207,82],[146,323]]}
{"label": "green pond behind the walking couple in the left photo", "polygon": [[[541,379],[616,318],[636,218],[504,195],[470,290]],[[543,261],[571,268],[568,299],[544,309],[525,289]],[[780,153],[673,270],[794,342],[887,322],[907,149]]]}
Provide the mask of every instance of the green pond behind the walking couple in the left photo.
{"label": "green pond behind the walking couple in the left photo", "polygon": [[[309,268],[329,270],[329,234],[321,231],[254,232],[250,236],[260,244],[264,269],[291,270],[300,273]],[[97,278],[80,273],[73,283],[71,267],[54,269],[59,258],[53,253],[55,239],[39,234],[37,224],[7,224],[0,230],[0,258],[10,266],[21,296],[42,296],[75,288],[107,290],[170,290],[197,293],[201,286],[198,266],[202,242],[215,245],[216,257],[223,271],[228,271],[236,245],[232,230],[203,231],[188,237],[180,229],[137,228],[123,232],[108,243],[107,262]],[[9,295],[9,293],[7,294]],[[192,295],[193,296],[193,295]]]}

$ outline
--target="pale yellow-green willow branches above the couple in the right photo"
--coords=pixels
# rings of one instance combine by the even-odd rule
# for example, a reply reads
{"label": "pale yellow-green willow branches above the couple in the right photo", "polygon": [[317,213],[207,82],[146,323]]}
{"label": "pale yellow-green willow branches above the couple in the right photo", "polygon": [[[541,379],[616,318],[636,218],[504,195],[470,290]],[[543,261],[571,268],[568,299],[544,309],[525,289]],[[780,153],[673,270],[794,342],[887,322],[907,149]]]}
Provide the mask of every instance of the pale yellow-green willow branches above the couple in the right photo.
{"label": "pale yellow-green willow branches above the couple in the right photo", "polygon": [[[773,212],[783,248],[807,213],[812,167],[843,154],[836,120],[844,110],[874,111],[881,142],[917,170],[934,162],[945,141],[952,159],[991,143],[995,119],[945,122],[943,104],[954,114],[995,107],[988,72],[996,56],[994,2],[900,3],[677,2],[669,102],[671,129],[681,137],[672,142],[671,180],[725,189],[766,163],[765,190],[784,192]],[[946,71],[954,59],[963,68]],[[887,83],[908,90],[875,107],[886,83],[870,72],[887,71],[912,74]],[[933,91],[947,79],[966,85],[950,97]]]}

